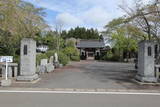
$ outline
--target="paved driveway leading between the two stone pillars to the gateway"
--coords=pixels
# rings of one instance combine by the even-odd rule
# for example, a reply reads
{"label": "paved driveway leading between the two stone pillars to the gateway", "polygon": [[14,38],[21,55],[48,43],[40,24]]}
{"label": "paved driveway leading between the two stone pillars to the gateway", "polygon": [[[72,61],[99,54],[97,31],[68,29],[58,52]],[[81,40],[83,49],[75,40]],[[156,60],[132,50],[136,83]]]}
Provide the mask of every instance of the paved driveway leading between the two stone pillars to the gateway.
{"label": "paved driveway leading between the two stone pillars to the gateway", "polygon": [[13,84],[27,88],[78,88],[78,89],[160,89],[159,86],[138,85],[133,81],[134,64],[97,61],[72,62],[55,72],[41,75],[36,84]]}

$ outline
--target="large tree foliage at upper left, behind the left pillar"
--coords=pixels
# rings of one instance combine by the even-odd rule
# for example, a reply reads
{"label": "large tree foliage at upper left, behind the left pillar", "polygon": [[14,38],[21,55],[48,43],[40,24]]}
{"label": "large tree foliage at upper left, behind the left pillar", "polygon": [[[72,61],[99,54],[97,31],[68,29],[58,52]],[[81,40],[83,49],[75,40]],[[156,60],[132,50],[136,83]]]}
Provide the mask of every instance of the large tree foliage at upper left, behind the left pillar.
{"label": "large tree foliage at upper left, behind the left pillar", "polygon": [[18,55],[22,38],[33,38],[47,27],[44,14],[23,0],[0,0],[0,55]]}

